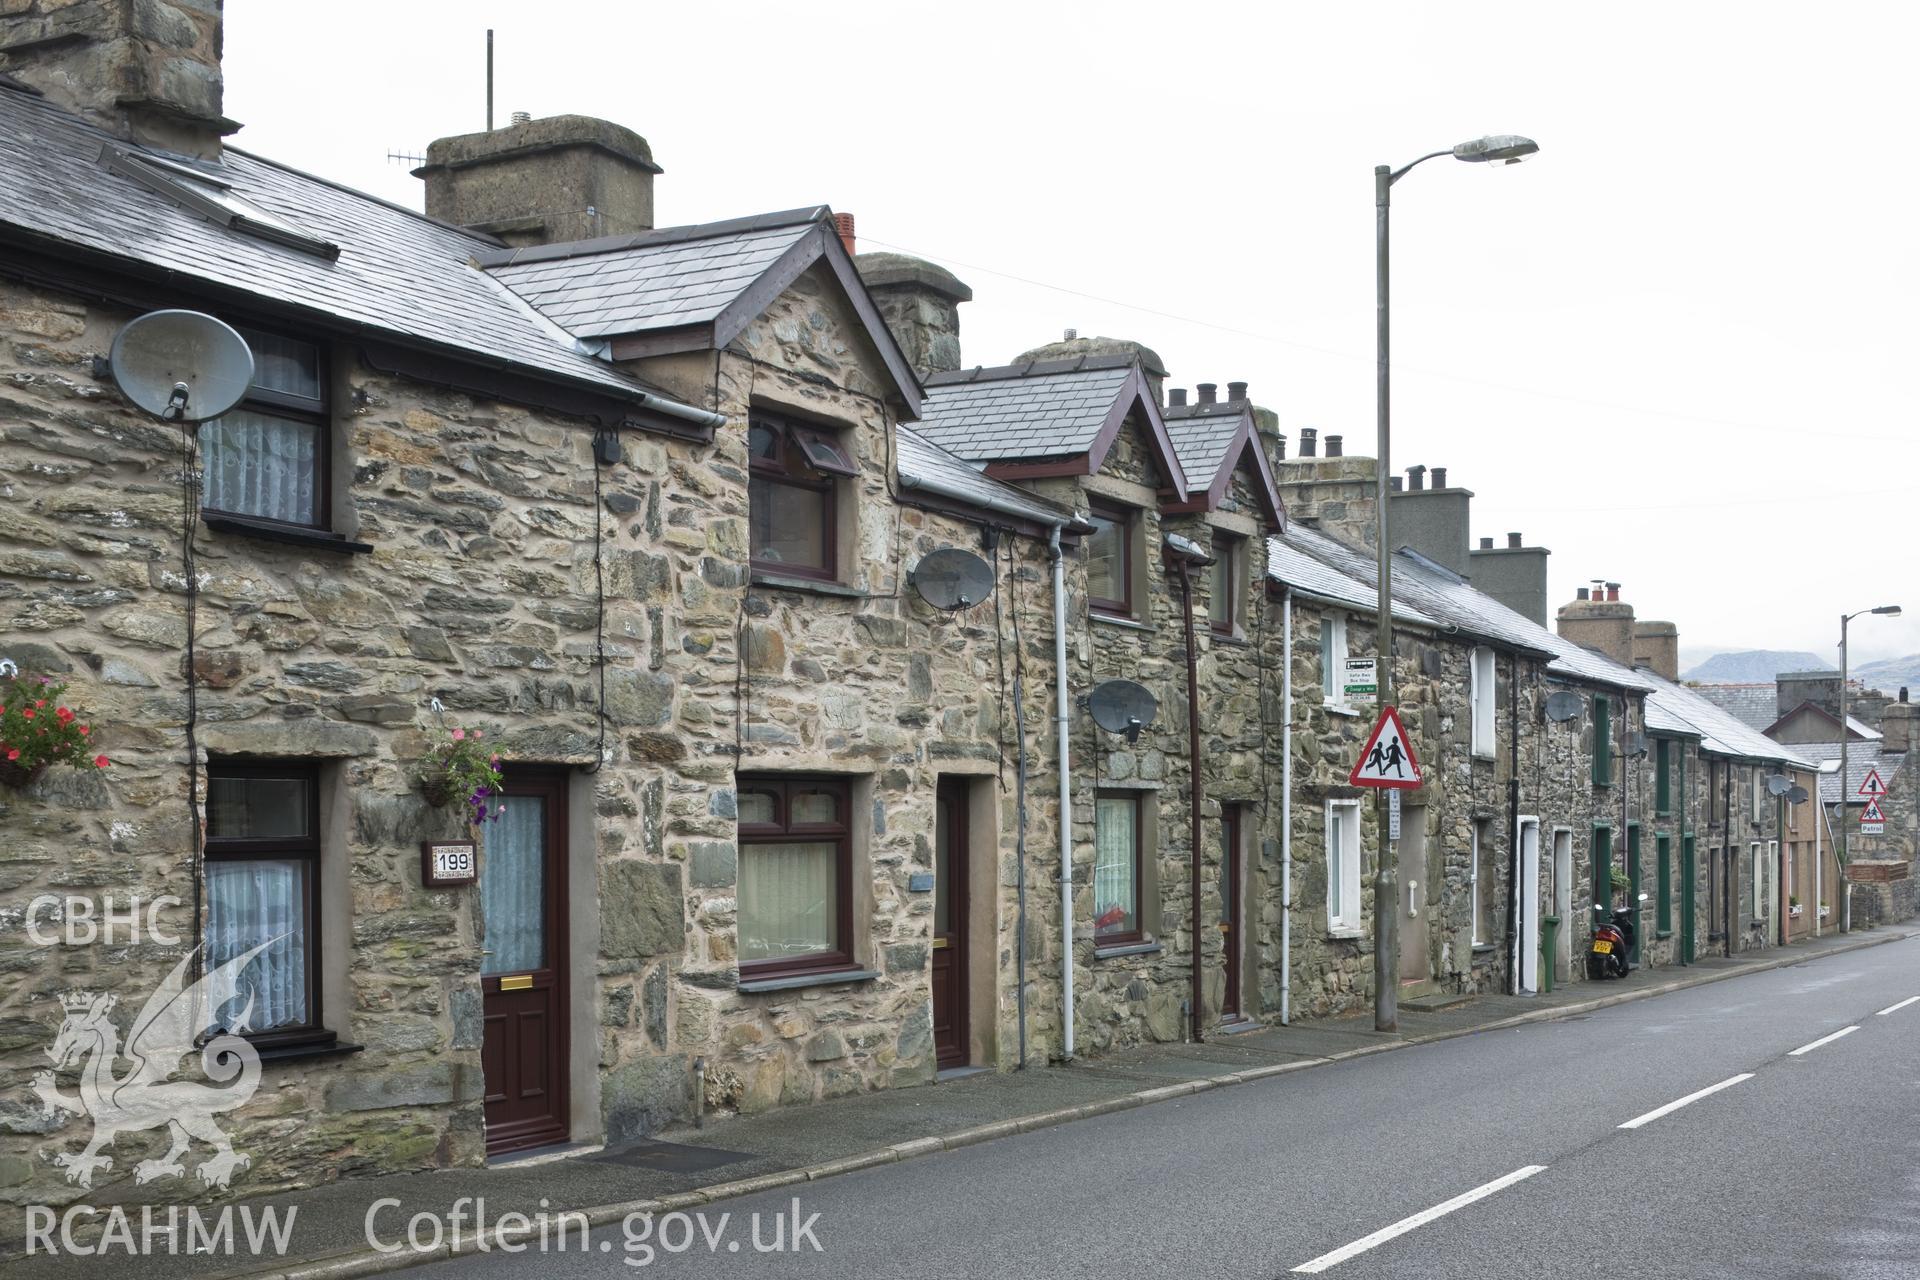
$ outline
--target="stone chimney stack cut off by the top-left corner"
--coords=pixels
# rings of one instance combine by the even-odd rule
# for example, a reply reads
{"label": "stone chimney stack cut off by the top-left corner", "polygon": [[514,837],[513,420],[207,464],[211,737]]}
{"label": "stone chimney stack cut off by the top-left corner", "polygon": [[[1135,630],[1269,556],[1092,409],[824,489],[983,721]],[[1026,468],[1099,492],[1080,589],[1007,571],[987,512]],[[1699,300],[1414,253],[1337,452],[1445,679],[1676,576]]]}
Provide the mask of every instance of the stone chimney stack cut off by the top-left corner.
{"label": "stone chimney stack cut off by the top-left corner", "polygon": [[6,0],[0,71],[111,134],[219,159],[223,0]]}

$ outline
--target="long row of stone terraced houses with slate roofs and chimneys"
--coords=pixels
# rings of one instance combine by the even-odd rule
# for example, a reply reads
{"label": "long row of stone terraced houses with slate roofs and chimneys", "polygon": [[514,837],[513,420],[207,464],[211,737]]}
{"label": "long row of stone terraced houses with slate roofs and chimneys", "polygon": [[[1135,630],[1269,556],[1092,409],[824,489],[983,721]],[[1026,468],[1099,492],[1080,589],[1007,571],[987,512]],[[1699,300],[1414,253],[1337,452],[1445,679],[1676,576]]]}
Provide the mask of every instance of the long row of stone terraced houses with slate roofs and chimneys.
{"label": "long row of stone terraced houses with slate roofs and chimneys", "polygon": [[[0,35],[0,658],[111,760],[0,779],[0,1244],[180,1196],[163,1132],[83,1151],[46,1050],[248,954],[209,1196],[1369,1006],[1371,459],[1133,342],[964,367],[950,273],[826,207],[657,228],[607,121],[434,142],[430,217],[286,169],[223,144],[219,6],[142,12]],[[106,363],[157,309],[253,353],[196,432]],[[1811,748],[1617,601],[1549,629],[1546,553],[1411,480],[1402,994],[1584,981],[1640,890],[1642,963],[1778,940],[1832,875],[1768,785]],[[422,787],[453,729],[478,829]]]}

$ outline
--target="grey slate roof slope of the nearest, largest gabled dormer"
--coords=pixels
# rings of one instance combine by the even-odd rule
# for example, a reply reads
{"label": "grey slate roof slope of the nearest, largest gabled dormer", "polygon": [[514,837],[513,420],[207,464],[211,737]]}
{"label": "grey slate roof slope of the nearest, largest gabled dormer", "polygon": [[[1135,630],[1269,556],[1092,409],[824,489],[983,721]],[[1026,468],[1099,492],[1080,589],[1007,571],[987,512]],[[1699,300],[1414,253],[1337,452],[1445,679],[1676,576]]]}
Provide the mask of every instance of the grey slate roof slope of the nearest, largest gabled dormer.
{"label": "grey slate roof slope of the nearest, largest gabled dormer", "polygon": [[515,294],[580,338],[716,319],[826,215],[787,209],[730,223],[482,255]]}

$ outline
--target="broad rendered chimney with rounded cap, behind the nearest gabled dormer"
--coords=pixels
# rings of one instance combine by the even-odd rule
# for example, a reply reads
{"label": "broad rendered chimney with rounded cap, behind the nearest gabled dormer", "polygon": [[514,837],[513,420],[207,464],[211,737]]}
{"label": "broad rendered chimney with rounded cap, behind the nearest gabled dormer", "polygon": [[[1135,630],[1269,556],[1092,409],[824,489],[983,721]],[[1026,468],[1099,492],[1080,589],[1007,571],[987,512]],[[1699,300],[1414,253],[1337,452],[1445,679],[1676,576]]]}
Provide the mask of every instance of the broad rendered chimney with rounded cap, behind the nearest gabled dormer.
{"label": "broad rendered chimney with rounded cap, behind the nearest gabled dormer", "polygon": [[563,244],[653,230],[653,148],[591,115],[518,119],[505,129],[436,138],[413,177],[426,215],[511,246]]}

